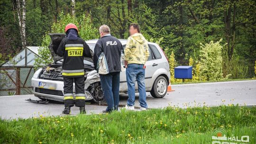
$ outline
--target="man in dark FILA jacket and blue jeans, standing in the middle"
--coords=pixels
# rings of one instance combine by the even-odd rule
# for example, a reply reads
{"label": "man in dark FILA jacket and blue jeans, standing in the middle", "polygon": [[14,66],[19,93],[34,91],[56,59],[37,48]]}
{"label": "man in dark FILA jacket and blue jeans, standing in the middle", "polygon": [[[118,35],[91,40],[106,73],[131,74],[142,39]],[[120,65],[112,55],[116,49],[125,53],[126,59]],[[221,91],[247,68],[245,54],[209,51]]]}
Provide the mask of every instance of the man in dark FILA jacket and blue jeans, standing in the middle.
{"label": "man in dark FILA jacket and blue jeans, standing in the middle", "polygon": [[107,62],[108,74],[100,74],[101,88],[108,107],[103,112],[118,110],[119,106],[119,83],[121,72],[121,54],[124,49],[121,42],[110,35],[110,28],[102,25],[99,29],[101,38],[95,45],[93,63],[95,70],[101,53],[104,53]]}

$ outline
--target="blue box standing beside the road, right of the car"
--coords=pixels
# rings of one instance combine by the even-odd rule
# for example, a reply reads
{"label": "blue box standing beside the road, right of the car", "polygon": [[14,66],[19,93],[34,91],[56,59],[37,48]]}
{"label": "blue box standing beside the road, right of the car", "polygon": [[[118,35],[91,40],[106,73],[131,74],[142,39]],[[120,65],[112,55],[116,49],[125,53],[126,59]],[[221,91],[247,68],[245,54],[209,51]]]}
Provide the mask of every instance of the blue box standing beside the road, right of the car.
{"label": "blue box standing beside the road, right of the car", "polygon": [[174,68],[175,79],[192,79],[192,66],[177,66]]}

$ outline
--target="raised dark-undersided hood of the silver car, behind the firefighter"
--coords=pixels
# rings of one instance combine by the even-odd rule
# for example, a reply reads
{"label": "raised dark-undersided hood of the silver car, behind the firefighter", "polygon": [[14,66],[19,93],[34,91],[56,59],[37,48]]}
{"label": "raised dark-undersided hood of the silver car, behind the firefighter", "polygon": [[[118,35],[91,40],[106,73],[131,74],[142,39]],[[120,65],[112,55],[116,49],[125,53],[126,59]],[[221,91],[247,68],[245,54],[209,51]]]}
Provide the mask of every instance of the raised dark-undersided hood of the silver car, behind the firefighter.
{"label": "raised dark-undersided hood of the silver car, behind the firefighter", "polygon": [[[51,37],[51,43],[48,46],[50,49],[50,52],[53,56],[53,60],[56,63],[57,61],[63,59],[63,56],[59,56],[57,54],[57,49],[62,41],[62,39],[66,36],[65,34],[60,34],[60,33],[53,33],[53,34],[49,34],[49,36]],[[91,49],[90,49],[91,50]],[[91,54],[93,55],[93,52],[91,50]],[[86,58],[84,57],[86,60],[89,60],[90,62],[92,62],[92,58]]]}

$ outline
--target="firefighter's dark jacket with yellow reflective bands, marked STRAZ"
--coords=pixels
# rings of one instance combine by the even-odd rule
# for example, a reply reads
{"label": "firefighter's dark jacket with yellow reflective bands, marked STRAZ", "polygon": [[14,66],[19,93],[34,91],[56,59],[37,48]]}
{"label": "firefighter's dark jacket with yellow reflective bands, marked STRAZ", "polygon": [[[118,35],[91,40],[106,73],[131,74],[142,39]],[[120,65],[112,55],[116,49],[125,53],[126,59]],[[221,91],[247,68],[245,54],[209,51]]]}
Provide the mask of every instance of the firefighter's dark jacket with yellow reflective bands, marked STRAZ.
{"label": "firefighter's dark jacket with yellow reflective bands, marked STRAZ", "polygon": [[64,57],[63,77],[84,76],[83,57],[92,57],[90,47],[80,37],[77,37],[76,40],[69,40],[68,37],[65,37],[58,47],[57,54]]}

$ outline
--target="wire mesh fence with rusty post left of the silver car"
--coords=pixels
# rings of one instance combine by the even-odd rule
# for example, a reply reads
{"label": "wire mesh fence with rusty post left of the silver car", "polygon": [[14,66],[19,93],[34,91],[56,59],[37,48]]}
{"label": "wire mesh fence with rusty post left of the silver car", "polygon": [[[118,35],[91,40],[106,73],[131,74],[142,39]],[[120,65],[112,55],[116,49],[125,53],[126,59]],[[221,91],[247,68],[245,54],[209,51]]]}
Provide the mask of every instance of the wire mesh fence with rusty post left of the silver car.
{"label": "wire mesh fence with rusty post left of the silver car", "polygon": [[0,68],[0,96],[32,94],[34,68]]}

